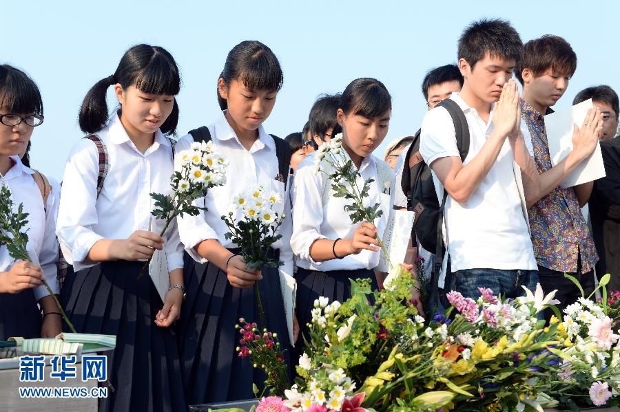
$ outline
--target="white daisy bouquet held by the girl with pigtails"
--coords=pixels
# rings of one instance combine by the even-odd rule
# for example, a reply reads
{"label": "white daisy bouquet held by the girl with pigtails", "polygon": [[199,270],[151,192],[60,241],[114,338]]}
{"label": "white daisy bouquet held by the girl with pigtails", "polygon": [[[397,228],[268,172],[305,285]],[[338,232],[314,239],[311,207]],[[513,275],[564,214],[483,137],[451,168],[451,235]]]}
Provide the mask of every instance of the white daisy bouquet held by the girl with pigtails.
{"label": "white daisy bouquet held by the girl with pigtails", "polygon": [[[193,142],[191,148],[180,156],[180,171],[175,171],[170,178],[172,195],[151,193],[155,200],[155,208],[151,214],[166,222],[160,236],[163,236],[177,216],[183,217],[185,213],[196,216],[204,209],[194,206],[195,199],[207,195],[207,191],[212,187],[226,184],[228,160],[217,153],[213,142]],[[140,277],[145,274],[150,262],[151,258],[143,266]]]}

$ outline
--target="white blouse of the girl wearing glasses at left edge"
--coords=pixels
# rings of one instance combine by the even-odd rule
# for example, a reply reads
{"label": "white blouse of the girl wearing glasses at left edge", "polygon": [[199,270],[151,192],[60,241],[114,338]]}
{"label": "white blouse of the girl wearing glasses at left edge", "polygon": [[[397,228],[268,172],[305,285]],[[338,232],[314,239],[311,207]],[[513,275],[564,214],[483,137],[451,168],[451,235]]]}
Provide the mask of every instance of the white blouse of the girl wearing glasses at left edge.
{"label": "white blouse of the girl wearing glasses at left edge", "polygon": [[[48,282],[54,294],[59,293],[58,281],[56,280],[58,263],[58,241],[56,241],[56,215],[60,197],[59,184],[48,178],[52,190],[43,207],[41,190],[34,182],[34,171],[24,166],[18,156],[11,156],[14,165],[4,176],[4,181],[11,192],[13,210],[17,212],[19,204],[23,204],[23,211],[28,213],[28,244],[26,249],[30,256],[36,254],[39,265],[43,270],[45,281]],[[8,272],[14,265],[13,258],[6,247],[0,248],[0,272]],[[34,298],[39,299],[48,296],[49,292],[41,285],[34,289]]]}

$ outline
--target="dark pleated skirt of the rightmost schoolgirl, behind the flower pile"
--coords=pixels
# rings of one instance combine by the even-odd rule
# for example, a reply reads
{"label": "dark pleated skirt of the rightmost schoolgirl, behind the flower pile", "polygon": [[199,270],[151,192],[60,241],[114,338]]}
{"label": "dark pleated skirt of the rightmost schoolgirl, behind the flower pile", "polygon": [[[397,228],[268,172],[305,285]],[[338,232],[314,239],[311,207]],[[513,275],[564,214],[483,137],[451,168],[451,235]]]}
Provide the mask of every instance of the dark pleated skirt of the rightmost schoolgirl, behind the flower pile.
{"label": "dark pleated skirt of the rightmost schoolgirl, behind the flower pile", "polygon": [[300,326],[296,356],[302,353],[304,338],[308,341],[310,339],[310,329],[307,324],[312,321],[310,312],[314,307],[314,301],[319,296],[329,299],[329,303],[333,301],[339,301],[340,303],[346,301],[351,297],[351,282],[349,279],[371,279],[371,288],[373,290],[379,289],[375,272],[370,269],[319,272],[318,270],[297,268],[295,279],[297,280],[295,313]]}

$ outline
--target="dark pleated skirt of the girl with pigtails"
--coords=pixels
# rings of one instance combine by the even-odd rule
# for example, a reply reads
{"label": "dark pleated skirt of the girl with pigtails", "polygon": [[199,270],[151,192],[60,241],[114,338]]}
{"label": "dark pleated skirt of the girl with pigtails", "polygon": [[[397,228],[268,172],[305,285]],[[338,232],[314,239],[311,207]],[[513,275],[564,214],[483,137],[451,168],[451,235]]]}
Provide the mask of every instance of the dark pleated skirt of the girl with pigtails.
{"label": "dark pleated skirt of the girl with pigtails", "polygon": [[114,391],[100,411],[186,411],[174,327],[154,323],[163,306],[143,262],[110,261],[65,279],[61,302],[77,332],[116,335],[107,371]]}

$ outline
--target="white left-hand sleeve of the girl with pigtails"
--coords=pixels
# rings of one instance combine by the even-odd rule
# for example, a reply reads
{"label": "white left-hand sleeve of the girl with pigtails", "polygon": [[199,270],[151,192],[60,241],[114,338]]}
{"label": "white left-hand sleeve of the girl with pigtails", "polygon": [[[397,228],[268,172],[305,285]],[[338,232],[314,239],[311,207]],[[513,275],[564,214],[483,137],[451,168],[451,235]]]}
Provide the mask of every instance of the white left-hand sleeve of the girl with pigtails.
{"label": "white left-hand sleeve of the girl with pigtails", "polygon": [[97,224],[97,177],[99,152],[94,142],[81,139],[72,149],[65,166],[56,235],[68,263],[74,270],[89,268],[83,263],[92,246],[103,239],[92,226]]}

